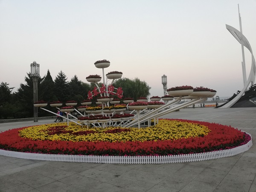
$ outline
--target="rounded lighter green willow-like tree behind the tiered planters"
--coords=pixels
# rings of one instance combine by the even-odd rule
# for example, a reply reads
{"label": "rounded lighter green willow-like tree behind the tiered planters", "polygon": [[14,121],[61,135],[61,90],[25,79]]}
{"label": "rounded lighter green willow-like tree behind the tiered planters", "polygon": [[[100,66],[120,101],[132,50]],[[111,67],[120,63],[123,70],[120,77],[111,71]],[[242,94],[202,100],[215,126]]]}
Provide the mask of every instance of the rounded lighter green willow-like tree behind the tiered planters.
{"label": "rounded lighter green willow-like tree behind the tiered planters", "polygon": [[131,97],[137,100],[138,97],[148,97],[150,95],[149,90],[151,87],[145,82],[141,81],[139,78],[135,79],[119,79],[113,83],[114,87],[122,87],[123,96]]}

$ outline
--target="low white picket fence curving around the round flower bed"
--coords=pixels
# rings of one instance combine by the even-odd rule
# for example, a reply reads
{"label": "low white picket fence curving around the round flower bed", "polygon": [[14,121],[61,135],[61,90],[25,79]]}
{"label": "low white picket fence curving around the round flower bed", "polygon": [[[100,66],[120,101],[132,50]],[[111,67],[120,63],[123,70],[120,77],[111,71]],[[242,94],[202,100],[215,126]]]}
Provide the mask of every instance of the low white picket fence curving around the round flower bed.
{"label": "low white picket fence curving around the round flower bed", "polygon": [[[243,131],[244,132],[244,131]],[[245,132],[248,134],[247,132]],[[250,135],[250,134],[248,134]],[[182,154],[182,155],[164,155],[164,156],[100,156],[100,155],[63,155],[63,154],[38,154],[24,153],[17,151],[0,150],[0,155],[7,157],[16,157],[20,159],[44,160],[44,161],[65,161],[81,163],[122,163],[122,164],[142,164],[142,163],[181,163],[192,161],[203,161],[230,157],[245,151],[253,145],[251,140],[245,145],[225,149],[220,151],[211,151],[206,153]]]}

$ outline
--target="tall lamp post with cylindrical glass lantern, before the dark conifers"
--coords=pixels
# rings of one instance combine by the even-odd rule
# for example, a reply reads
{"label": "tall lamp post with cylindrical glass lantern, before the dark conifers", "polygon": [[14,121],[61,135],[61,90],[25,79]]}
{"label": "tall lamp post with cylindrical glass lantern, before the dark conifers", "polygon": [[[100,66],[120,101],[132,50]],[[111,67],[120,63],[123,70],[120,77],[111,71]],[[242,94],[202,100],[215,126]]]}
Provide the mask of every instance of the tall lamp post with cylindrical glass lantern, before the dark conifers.
{"label": "tall lamp post with cylindrical glass lantern, before the dark conifers", "polygon": [[[39,64],[33,61],[30,64],[30,76],[33,81],[33,100],[38,101],[38,78],[40,76]],[[34,122],[38,122],[38,108],[34,106]]]}

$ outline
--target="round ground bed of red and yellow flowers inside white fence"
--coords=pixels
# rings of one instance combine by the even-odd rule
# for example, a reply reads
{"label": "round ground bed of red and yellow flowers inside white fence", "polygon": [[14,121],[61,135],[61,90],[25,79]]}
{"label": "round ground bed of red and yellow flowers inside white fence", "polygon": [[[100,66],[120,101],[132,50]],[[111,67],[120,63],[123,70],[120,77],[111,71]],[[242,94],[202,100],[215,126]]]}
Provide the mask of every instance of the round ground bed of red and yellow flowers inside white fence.
{"label": "round ground bed of red and yellow flowers inside white fence", "polygon": [[176,155],[234,148],[250,136],[226,125],[160,119],[147,128],[89,128],[55,123],[0,134],[0,149],[47,154]]}

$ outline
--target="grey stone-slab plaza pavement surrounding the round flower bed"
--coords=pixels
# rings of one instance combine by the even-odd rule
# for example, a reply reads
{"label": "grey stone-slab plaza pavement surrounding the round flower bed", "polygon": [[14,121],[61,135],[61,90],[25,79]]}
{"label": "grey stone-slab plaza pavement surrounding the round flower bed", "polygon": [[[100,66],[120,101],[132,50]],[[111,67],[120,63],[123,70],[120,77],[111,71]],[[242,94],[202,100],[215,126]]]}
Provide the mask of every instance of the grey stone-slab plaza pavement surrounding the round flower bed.
{"label": "grey stone-slab plaza pavement surrounding the round flower bed", "polygon": [[[181,109],[163,118],[215,122],[256,138],[256,108]],[[9,122],[0,132],[28,125]],[[169,164],[101,164],[0,156],[0,192],[256,192],[256,147],[233,157]]]}

